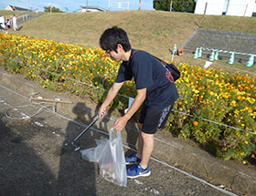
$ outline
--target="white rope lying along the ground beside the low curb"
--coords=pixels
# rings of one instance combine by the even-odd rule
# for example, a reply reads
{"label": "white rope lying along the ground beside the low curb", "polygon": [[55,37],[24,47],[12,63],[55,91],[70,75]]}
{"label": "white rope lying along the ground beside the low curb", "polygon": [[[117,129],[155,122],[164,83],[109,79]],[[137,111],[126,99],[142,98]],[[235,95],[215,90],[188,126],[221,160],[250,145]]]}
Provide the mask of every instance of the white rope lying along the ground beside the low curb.
{"label": "white rope lying along the ground beside the low curb", "polygon": [[[12,90],[12,89],[10,89],[10,88],[6,88],[5,86],[2,86],[2,85],[0,85],[0,87],[1,87],[1,88],[5,88],[6,90],[8,90],[8,91],[10,91],[10,92],[13,92],[13,93],[15,93],[16,95],[18,95],[18,96],[20,96],[20,97],[22,97],[22,98],[30,99],[30,98],[27,98],[26,96],[23,96],[23,95],[19,94],[18,92],[14,91],[14,90]],[[36,102],[36,103],[38,103],[38,102],[35,101],[35,100],[33,100],[33,101]],[[38,103],[38,105],[41,105],[41,104]],[[50,108],[47,108],[47,107],[44,106],[44,105],[42,105],[42,108],[46,108],[46,109],[48,109],[49,111],[52,112],[52,110],[51,110]],[[84,127],[84,128],[87,128],[87,127],[88,127],[88,126],[86,126],[86,125],[83,124],[83,123],[80,123],[80,122],[78,122],[78,121],[76,121],[76,120],[74,120],[74,119],[69,119],[68,117],[65,117],[65,116],[61,115],[61,114],[59,114],[58,112],[55,112],[55,113],[53,113],[53,114],[58,115],[58,116],[59,116],[60,118],[62,118],[62,119],[67,119],[67,120],[69,120],[70,122],[73,122],[73,123],[75,123],[75,124],[77,124],[77,125],[80,125],[81,127]],[[108,133],[106,133],[106,132],[104,132],[104,131],[102,131],[102,130],[100,130],[100,129],[94,129],[94,128],[91,128],[91,129],[94,130],[94,131],[100,132],[100,133],[102,133],[102,134],[104,134],[104,135],[109,136]],[[125,142],[125,143],[126,143],[126,142]],[[127,143],[127,145],[131,145],[131,144]],[[129,149],[129,150],[133,150],[133,149],[131,149],[130,147],[128,147],[128,146],[126,146],[126,145],[123,145],[123,147],[125,147],[125,148],[127,148],[127,149]],[[133,151],[136,152],[136,150],[133,150]],[[155,157],[155,155],[153,155],[153,156]],[[205,181],[205,180],[203,180],[203,179],[197,178],[196,176],[192,175],[191,173],[188,173],[187,171],[180,170],[180,169],[176,168],[175,166],[172,166],[172,165],[166,163],[164,160],[160,160],[160,159],[157,159],[157,158],[154,158],[154,157],[151,157],[151,160],[155,160],[155,161],[159,162],[160,164],[163,164],[163,165],[165,165],[165,166],[167,166],[167,167],[169,167],[169,168],[172,168],[172,169],[174,169],[174,170],[177,170],[177,171],[179,171],[179,172],[181,172],[181,173],[183,173],[183,174],[185,174],[185,175],[187,175],[187,176],[189,176],[189,177],[191,177],[191,178],[193,178],[193,179],[195,179],[195,180],[197,180],[197,181],[200,181],[200,182],[202,182],[202,183],[204,183],[204,184],[207,184],[208,186],[212,187],[213,189],[216,189],[216,190],[218,190],[218,191],[221,191],[221,192],[223,192],[223,193],[225,193],[225,194],[228,194],[228,195],[230,195],[230,196],[238,196],[237,194],[235,194],[235,193],[233,193],[233,192],[223,190],[223,189],[219,188],[218,186],[209,183],[208,181]]]}

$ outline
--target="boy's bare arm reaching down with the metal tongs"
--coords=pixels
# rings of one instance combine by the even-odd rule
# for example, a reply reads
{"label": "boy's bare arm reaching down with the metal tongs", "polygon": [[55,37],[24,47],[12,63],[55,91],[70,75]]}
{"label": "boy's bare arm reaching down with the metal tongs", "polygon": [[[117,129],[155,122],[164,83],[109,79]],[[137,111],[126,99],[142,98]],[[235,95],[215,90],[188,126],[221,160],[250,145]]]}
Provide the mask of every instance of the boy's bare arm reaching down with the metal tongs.
{"label": "boy's bare arm reaching down with the metal tongs", "polygon": [[98,115],[100,118],[106,115],[107,107],[111,104],[112,100],[116,97],[118,91],[120,90],[120,88],[122,88],[122,86],[123,86],[123,82],[113,83],[112,88],[110,88],[108,92],[107,98],[104,100],[99,110]]}

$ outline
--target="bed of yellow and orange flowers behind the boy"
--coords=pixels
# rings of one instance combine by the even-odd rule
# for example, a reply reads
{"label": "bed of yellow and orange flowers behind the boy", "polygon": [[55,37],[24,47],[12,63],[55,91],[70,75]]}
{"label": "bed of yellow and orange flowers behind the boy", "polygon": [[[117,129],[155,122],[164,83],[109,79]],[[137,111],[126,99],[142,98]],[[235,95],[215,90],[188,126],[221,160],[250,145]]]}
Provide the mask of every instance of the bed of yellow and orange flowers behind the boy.
{"label": "bed of yellow and orange flowers behind the boy", "polygon": [[[117,75],[119,63],[99,48],[63,44],[0,33],[0,64],[55,91],[69,91],[101,102]],[[195,139],[224,160],[242,160],[255,151],[256,81],[241,73],[180,64],[180,98],[166,129]],[[112,108],[127,108],[136,96],[126,82]],[[251,155],[253,157],[253,155]]]}

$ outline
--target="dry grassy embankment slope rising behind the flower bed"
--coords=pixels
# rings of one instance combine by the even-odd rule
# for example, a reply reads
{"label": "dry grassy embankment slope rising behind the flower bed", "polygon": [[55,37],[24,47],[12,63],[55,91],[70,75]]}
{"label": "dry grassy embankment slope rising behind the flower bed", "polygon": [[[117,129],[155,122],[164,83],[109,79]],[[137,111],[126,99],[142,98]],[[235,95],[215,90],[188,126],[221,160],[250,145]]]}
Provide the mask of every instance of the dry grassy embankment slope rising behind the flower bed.
{"label": "dry grassy embankment slope rising behind the flower bed", "polygon": [[[1,12],[5,16],[5,11]],[[44,13],[46,14],[46,13]],[[181,46],[191,36],[202,19],[202,15],[170,13],[162,11],[131,10],[99,13],[47,14],[25,24],[18,34],[43,37],[65,43],[79,43],[98,47],[101,33],[108,27],[123,27],[134,48],[144,49],[157,57],[171,60],[168,52]],[[196,23],[195,23],[196,22]],[[256,17],[227,15],[205,15],[203,28],[223,31],[255,33]],[[191,57],[175,57],[175,61],[204,65],[205,61]],[[226,65],[227,62],[217,62]],[[219,67],[215,62],[215,66]],[[256,73],[256,67],[238,67]],[[225,69],[225,68],[224,68]]]}

